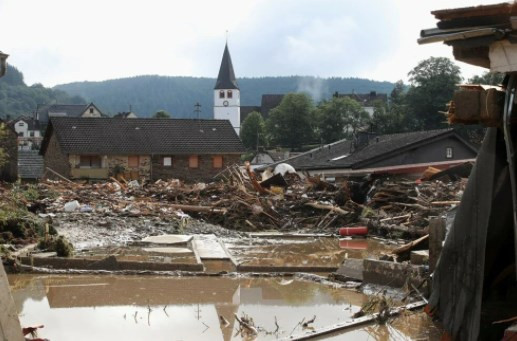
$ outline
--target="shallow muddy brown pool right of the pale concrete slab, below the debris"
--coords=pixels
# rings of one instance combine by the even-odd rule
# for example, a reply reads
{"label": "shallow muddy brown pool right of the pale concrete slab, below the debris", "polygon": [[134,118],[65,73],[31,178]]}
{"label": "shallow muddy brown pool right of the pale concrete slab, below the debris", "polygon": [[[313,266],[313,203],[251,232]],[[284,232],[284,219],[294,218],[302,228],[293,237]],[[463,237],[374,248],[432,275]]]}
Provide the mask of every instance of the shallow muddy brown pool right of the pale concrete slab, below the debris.
{"label": "shallow muddy brown pool right of the pale concrete slab, below the debris", "polygon": [[373,239],[233,239],[225,245],[245,265],[339,266],[345,258],[378,257],[393,246]]}

